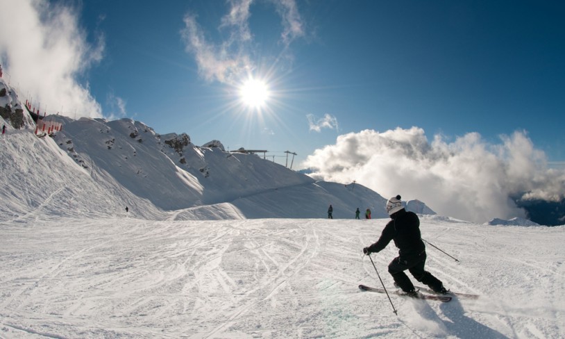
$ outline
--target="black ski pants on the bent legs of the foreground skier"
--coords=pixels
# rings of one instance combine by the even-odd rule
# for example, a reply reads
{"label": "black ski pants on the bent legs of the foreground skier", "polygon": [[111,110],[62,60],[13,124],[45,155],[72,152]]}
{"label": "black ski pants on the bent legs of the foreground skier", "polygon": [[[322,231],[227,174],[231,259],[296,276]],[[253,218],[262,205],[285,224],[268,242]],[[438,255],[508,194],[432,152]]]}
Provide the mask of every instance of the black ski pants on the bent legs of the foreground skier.
{"label": "black ski pants on the bent legs of the foreground skier", "polygon": [[404,272],[405,270],[408,270],[417,281],[429,286],[432,290],[439,291],[444,286],[439,279],[424,270],[425,258],[425,251],[422,251],[421,254],[398,256],[389,264],[389,273],[396,285],[404,292],[414,290],[414,284]]}

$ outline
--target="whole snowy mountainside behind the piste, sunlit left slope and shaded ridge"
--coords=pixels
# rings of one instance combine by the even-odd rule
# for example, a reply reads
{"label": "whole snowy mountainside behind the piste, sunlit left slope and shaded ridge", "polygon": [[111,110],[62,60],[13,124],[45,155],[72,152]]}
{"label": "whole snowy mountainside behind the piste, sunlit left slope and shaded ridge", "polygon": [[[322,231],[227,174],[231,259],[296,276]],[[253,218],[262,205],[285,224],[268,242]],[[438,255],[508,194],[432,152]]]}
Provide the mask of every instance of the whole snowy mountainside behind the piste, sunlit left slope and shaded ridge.
{"label": "whole snowy mountainside behind the piste, sunlit left slope and shaded ridge", "polygon": [[[0,85],[10,94],[3,104],[21,106],[14,90],[1,79]],[[387,216],[386,199],[363,185],[317,182],[254,154],[226,152],[219,140],[198,147],[186,133],[160,135],[132,119],[59,115],[44,120],[59,122],[62,131],[37,138],[31,117],[17,113],[22,129],[12,126],[12,115],[0,118],[8,125],[2,140],[8,175],[0,176],[8,188],[0,193],[6,198],[0,212],[7,215],[37,208],[99,215],[104,212],[92,206],[102,204],[110,215],[128,206],[132,215],[152,220],[171,218],[171,211],[177,220],[305,218],[327,217],[332,204],[336,218],[355,217],[357,207]],[[278,206],[281,200],[285,206]]]}

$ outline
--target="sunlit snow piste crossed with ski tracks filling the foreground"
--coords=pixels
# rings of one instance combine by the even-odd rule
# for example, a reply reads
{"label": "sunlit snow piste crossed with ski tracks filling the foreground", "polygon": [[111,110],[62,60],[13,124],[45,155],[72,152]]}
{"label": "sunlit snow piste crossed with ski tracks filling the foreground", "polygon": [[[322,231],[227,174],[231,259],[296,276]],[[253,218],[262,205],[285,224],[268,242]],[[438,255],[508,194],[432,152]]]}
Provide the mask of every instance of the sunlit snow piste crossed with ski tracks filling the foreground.
{"label": "sunlit snow piste crossed with ski tracks filling the foreground", "polygon": [[[428,245],[427,269],[482,297],[391,296],[397,316],[357,288],[380,286],[362,248],[387,221],[4,222],[0,338],[565,336],[563,228],[423,221],[423,238],[460,261]],[[389,289],[395,256],[392,243],[371,255]]]}

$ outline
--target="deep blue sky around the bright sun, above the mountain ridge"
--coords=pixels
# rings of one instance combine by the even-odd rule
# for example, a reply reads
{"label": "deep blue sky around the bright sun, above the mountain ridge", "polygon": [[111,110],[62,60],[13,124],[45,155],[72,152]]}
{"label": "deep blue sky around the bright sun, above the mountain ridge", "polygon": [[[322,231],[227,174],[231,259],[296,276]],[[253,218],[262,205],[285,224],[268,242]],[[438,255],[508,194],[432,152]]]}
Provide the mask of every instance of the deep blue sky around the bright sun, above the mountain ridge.
{"label": "deep blue sky around the bright sun, above the mountain ridge", "polygon": [[[279,163],[288,150],[301,164],[339,135],[412,126],[429,142],[478,133],[489,147],[520,131],[550,162],[565,160],[562,1],[7,2],[8,15],[29,18],[19,25],[40,23],[13,33],[19,43],[59,34],[78,59],[56,68],[90,106],[36,89],[31,66],[1,45],[6,72],[49,113],[131,117],[195,144],[267,149]],[[37,59],[53,53],[41,48]],[[260,109],[241,102],[248,76],[268,86]]]}

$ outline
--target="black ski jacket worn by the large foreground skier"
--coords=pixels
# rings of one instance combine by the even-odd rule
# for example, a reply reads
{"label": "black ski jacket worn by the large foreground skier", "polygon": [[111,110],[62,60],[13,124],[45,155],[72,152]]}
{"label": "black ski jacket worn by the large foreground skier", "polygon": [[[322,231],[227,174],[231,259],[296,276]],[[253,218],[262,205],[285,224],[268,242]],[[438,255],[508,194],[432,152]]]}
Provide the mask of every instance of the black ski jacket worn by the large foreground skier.
{"label": "black ski jacket worn by the large foreground skier", "polygon": [[391,215],[392,220],[382,230],[379,240],[369,246],[369,252],[376,253],[385,249],[390,240],[398,247],[400,256],[418,255],[425,251],[420,233],[420,220],[414,212],[404,208]]}

